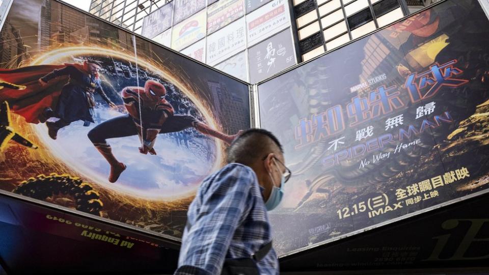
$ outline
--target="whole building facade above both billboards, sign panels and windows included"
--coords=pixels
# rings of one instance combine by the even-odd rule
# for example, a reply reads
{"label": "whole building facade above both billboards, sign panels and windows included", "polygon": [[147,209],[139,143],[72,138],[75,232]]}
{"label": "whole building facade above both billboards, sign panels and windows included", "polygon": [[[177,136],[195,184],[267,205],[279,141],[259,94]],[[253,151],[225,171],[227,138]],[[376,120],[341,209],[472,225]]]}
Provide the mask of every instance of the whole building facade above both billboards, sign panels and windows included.
{"label": "whole building facade above both billboards, sign panels and windows included", "polygon": [[92,0],[90,13],[252,84],[437,0]]}

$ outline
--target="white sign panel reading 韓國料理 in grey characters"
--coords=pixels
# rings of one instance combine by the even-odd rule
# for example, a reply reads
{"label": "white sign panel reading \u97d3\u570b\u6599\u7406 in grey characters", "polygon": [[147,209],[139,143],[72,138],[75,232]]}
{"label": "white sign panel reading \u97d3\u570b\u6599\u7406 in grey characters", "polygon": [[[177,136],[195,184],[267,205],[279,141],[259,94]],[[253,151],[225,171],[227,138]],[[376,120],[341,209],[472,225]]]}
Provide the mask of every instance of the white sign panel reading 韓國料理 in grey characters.
{"label": "white sign panel reading \u97d3\u570b\u6599\u7406 in grey characters", "polygon": [[244,17],[207,37],[207,64],[213,66],[246,48]]}

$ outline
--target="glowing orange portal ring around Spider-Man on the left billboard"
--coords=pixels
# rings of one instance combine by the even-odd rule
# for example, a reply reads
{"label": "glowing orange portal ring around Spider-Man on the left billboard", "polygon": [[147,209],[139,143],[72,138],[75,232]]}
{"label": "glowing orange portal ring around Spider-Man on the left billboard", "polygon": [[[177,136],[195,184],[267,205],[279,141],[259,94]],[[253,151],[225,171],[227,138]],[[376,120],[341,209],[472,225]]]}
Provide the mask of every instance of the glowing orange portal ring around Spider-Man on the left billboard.
{"label": "glowing orange portal ring around Spider-Man on the left billboard", "polygon": [[[48,51],[46,53],[41,54],[38,56],[35,60],[31,62],[30,65],[45,65],[45,64],[59,64],[60,60],[66,59],[67,57],[70,56],[84,56],[84,55],[95,55],[95,56],[113,56],[117,57],[120,59],[125,59],[125,60],[130,60],[135,62],[135,57],[133,55],[121,52],[121,51],[116,51],[113,49],[107,49],[107,48],[99,48],[99,47],[84,47],[84,46],[75,46],[75,47],[66,47],[66,48],[59,48],[59,49],[54,49],[51,51]],[[180,91],[182,91],[189,99],[192,100],[192,102],[197,106],[199,111],[202,113],[203,117],[205,118],[206,122],[213,128],[215,129],[220,129],[218,123],[216,122],[215,118],[212,116],[212,112],[210,111],[210,108],[205,106],[203,101],[200,100],[199,96],[192,90],[192,88],[187,87],[186,85],[182,84],[181,80],[178,79],[175,75],[171,74],[166,68],[158,68],[154,64],[148,62],[144,58],[141,58],[138,56],[138,64],[141,67],[147,68],[156,74],[159,74],[161,77],[169,80],[172,82],[173,85],[175,85]],[[216,159],[215,162],[211,168],[211,171],[218,170],[219,167],[221,166],[222,161],[224,161],[224,152],[223,152],[223,143],[221,140],[214,139],[214,142],[216,143]],[[75,169],[76,170],[76,169]],[[104,186],[107,186],[106,184],[103,184]],[[115,189],[120,191],[121,193],[124,193],[129,196],[134,196],[133,192],[131,190],[128,190],[126,188],[120,188],[117,185],[110,185],[110,189]],[[198,185],[196,185],[195,188],[192,190],[189,190],[185,195],[181,195],[178,197],[175,197],[174,199],[179,199],[182,197],[188,197],[191,196],[195,193],[195,190],[197,189]],[[141,194],[138,194],[138,197],[141,198]],[[144,197],[144,196],[143,196]],[[148,196],[144,197],[145,199],[150,199],[150,200],[160,200],[160,199],[165,199],[168,200],[168,197],[165,198],[158,198],[158,197],[153,197],[153,196]]]}

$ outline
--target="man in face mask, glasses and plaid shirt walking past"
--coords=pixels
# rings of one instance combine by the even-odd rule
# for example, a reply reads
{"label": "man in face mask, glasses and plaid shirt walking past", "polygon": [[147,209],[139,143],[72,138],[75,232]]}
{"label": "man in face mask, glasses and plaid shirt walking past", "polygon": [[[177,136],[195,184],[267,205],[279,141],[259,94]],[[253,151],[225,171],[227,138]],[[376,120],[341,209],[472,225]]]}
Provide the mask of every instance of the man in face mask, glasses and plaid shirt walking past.
{"label": "man in face mask, glasses and plaid shirt walking past", "polygon": [[227,162],[188,209],[176,275],[279,274],[266,211],[290,178],[282,146],[272,133],[250,129],[230,145]]}

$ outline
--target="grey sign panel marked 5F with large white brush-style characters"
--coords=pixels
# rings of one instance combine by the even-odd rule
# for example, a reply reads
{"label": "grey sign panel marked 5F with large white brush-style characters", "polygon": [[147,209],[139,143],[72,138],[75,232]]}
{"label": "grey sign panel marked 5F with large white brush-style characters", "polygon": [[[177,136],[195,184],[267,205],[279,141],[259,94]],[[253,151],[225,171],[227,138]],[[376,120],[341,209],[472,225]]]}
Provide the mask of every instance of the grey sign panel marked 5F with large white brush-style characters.
{"label": "grey sign panel marked 5F with large white brush-style characters", "polygon": [[257,83],[296,64],[290,29],[248,50],[250,82]]}

